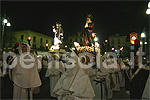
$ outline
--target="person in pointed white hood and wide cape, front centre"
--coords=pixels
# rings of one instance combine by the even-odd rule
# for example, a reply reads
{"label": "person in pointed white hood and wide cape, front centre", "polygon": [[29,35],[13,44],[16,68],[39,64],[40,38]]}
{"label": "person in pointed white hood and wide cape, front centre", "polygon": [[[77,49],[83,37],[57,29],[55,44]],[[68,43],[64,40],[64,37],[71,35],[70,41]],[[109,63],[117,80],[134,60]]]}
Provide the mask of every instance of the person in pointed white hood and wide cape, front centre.
{"label": "person in pointed white hood and wide cape, front centre", "polygon": [[66,72],[58,80],[53,93],[58,100],[92,100],[95,96],[89,77],[79,66],[79,58],[72,51]]}

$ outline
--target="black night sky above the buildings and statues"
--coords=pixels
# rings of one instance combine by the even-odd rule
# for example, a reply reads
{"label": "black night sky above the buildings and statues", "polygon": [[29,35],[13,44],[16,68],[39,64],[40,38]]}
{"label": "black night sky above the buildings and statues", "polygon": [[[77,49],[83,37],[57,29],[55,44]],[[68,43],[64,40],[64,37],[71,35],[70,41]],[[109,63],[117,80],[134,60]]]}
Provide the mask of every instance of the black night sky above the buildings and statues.
{"label": "black night sky above the buildings and statues", "polygon": [[53,36],[52,25],[62,23],[65,36],[77,34],[88,14],[93,15],[100,41],[119,33],[141,33],[149,28],[147,1],[2,1],[1,13],[10,18],[12,31],[32,30]]}

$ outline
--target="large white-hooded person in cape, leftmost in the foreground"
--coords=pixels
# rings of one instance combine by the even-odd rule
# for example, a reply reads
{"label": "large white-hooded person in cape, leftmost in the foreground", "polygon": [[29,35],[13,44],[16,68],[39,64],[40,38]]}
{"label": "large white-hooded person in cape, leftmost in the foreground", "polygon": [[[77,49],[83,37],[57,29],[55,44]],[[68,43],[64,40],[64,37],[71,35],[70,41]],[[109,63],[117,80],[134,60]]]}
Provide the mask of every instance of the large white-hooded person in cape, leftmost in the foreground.
{"label": "large white-hooded person in cape, leftmost in the foreground", "polygon": [[10,65],[10,78],[14,82],[13,99],[33,99],[33,90],[41,86],[38,68],[41,68],[37,57],[30,54],[30,46],[23,43],[19,46],[20,55]]}

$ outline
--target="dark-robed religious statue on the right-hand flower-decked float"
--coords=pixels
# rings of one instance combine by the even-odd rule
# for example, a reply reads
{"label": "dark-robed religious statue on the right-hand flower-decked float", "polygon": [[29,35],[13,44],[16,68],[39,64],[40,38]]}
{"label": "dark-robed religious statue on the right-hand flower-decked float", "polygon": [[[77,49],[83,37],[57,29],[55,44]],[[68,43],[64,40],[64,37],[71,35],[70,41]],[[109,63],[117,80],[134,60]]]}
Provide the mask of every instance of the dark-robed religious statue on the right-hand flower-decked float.
{"label": "dark-robed religious statue on the right-hand flower-decked float", "polygon": [[86,17],[86,23],[82,27],[82,41],[84,42],[85,46],[92,46],[91,34],[93,33],[94,29],[94,23],[92,19],[93,16],[89,14]]}

